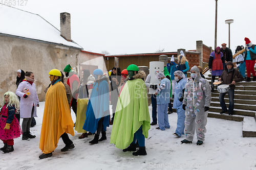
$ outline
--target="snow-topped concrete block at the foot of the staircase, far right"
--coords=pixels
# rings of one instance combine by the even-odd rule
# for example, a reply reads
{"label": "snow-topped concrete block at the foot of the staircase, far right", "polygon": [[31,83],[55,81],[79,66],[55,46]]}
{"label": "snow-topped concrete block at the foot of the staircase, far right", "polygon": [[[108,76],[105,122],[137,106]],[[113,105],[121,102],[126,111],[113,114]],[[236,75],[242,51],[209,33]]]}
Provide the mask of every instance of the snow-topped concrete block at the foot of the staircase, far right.
{"label": "snow-topped concrete block at the foot of the staircase, far right", "polygon": [[256,137],[255,117],[244,117],[243,137]]}

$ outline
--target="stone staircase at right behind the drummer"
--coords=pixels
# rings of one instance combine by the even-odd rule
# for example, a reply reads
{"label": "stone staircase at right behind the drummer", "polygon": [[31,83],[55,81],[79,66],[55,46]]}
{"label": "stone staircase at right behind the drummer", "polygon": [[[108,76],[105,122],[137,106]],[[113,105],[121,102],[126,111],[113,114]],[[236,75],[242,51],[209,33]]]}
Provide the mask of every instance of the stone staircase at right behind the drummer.
{"label": "stone staircase at right behind the drummer", "polygon": [[[256,70],[256,67],[254,67],[254,70]],[[211,78],[209,77],[206,79],[211,84]],[[217,79],[218,78],[215,80],[217,81]],[[222,109],[219,102],[219,94],[220,93],[217,91],[215,86],[214,92],[211,93],[211,104],[208,117],[243,122],[243,137],[256,137],[256,82],[243,81],[236,83],[236,89],[234,91],[234,115],[232,116],[229,116],[227,113],[220,114]],[[228,108],[228,94],[225,95],[224,100]],[[176,112],[176,109],[173,110]]]}

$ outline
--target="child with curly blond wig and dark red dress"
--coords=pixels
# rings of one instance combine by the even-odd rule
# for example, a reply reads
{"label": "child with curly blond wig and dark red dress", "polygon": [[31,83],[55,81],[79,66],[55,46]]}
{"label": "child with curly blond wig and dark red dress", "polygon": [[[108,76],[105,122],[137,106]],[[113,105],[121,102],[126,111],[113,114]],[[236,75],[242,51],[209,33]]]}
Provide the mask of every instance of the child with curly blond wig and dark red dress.
{"label": "child with curly blond wig and dark red dress", "polygon": [[4,94],[5,99],[2,102],[0,115],[0,139],[4,142],[4,147],[0,150],[4,153],[14,151],[13,144],[15,138],[22,134],[17,118],[15,117],[16,109],[19,109],[19,101],[17,96],[8,91]]}

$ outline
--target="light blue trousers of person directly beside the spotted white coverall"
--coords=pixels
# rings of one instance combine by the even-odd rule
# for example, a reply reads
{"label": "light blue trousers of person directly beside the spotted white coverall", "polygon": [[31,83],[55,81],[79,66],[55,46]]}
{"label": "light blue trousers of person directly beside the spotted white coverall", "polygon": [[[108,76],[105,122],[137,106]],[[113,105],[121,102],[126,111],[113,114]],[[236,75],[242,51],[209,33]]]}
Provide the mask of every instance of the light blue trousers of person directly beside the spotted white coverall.
{"label": "light blue trousers of person directly beside the spotted white coverall", "polygon": [[177,128],[175,133],[177,133],[180,137],[184,135],[185,128],[185,110],[183,110],[182,105],[180,105],[177,109],[178,119],[177,119]]}

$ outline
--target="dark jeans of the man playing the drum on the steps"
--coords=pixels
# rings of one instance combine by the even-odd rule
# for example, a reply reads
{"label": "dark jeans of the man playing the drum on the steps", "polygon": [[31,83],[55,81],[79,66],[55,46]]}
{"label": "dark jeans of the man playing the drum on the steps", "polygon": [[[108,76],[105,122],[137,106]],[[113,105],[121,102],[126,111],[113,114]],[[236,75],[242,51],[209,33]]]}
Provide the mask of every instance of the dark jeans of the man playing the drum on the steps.
{"label": "dark jeans of the man playing the drum on the steps", "polygon": [[221,108],[222,108],[222,111],[227,111],[227,106],[224,101],[224,96],[226,93],[228,93],[228,98],[229,98],[228,113],[232,113],[234,110],[234,89],[233,90],[230,89],[228,92],[225,92],[225,93],[220,93],[219,100],[221,103]]}

